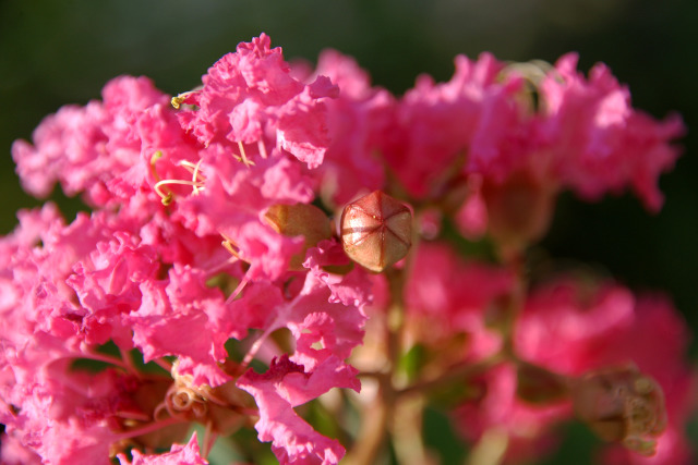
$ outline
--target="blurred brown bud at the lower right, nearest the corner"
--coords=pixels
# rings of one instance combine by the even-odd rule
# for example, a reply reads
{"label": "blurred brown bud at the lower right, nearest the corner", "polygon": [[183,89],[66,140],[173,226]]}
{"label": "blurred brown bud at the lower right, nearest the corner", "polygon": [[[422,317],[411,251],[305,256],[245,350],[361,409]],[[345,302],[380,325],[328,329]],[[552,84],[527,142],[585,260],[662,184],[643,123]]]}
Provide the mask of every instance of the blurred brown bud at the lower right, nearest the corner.
{"label": "blurred brown bud at the lower right, nearest the corner", "polygon": [[655,452],[666,427],[664,395],[660,386],[635,367],[592,371],[573,388],[577,415],[601,439],[622,442],[642,455]]}

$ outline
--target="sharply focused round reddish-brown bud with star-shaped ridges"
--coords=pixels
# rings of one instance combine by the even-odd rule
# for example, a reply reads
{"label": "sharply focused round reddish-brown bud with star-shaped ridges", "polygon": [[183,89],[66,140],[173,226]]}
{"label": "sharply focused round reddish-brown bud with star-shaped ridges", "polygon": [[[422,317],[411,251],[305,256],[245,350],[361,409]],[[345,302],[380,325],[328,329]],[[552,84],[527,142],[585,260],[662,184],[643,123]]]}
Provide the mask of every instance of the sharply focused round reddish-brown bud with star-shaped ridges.
{"label": "sharply focused round reddish-brown bud with star-shaped ridges", "polygon": [[345,207],[340,234],[349,258],[380,273],[409,252],[412,212],[401,201],[375,191]]}

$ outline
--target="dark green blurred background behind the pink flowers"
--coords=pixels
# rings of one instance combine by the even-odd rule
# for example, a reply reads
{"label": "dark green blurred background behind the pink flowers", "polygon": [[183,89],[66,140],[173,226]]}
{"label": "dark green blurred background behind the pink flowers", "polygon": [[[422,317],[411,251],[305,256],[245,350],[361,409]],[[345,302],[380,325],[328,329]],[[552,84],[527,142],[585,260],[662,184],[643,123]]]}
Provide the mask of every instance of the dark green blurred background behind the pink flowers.
{"label": "dark green blurred background behind the pink flowers", "polygon": [[[0,0],[0,233],[12,230],[19,208],[40,204],[20,188],[12,142],[31,138],[60,106],[99,98],[119,74],[147,75],[177,94],[261,32],[287,59],[315,61],[328,47],[351,54],[396,94],[420,73],[448,79],[457,53],[554,62],[578,51],[582,70],[605,62],[637,108],[655,118],[677,111],[689,134],[675,170],[661,179],[660,213],[629,195],[599,204],[565,195],[544,249],[636,290],[669,293],[696,330],[697,23],[695,0]],[[59,192],[55,198],[69,220],[81,208]],[[589,441],[585,435],[577,442]]]}

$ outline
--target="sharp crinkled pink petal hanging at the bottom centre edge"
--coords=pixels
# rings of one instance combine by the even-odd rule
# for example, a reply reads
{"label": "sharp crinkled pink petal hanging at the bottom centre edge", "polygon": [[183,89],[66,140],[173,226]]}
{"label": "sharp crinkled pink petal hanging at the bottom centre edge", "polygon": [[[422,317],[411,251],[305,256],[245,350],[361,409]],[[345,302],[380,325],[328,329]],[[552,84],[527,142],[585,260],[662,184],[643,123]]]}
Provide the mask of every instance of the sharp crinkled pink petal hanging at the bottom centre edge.
{"label": "sharp crinkled pink petal hanging at the bottom centre edge", "polygon": [[[263,442],[272,441],[272,450],[281,464],[337,464],[345,449],[337,440],[325,438],[296,414],[293,406],[336,387],[337,359],[308,372],[287,357],[276,359],[265,374],[249,370],[238,386],[252,394],[260,408],[255,425]],[[350,379],[346,387],[354,387]],[[354,388],[357,389],[357,388]]]}

